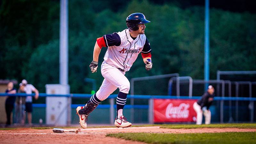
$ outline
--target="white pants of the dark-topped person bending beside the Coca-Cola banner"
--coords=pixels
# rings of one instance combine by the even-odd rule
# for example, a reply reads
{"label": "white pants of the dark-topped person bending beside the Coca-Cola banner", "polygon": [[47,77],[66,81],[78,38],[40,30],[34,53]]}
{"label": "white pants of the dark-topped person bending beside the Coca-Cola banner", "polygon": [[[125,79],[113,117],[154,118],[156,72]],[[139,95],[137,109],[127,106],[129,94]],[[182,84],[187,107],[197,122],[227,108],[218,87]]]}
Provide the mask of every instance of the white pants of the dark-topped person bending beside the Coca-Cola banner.
{"label": "white pants of the dark-topped person bending beside the Coca-Cola banner", "polygon": [[210,110],[204,110],[204,113],[201,109],[201,106],[195,102],[193,104],[193,108],[196,111],[196,124],[202,124],[203,121],[203,114],[205,118],[205,124],[211,124],[211,111]]}

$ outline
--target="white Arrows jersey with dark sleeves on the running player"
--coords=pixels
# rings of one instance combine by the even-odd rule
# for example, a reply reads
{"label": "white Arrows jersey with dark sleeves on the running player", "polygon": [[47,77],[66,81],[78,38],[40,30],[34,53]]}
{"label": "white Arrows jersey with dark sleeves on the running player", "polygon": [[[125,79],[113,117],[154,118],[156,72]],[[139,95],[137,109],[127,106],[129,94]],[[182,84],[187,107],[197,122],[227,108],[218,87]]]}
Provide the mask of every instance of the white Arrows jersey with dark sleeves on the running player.
{"label": "white Arrows jersey with dark sleeves on the running player", "polygon": [[122,32],[118,33],[104,35],[103,38],[106,46],[108,46],[104,61],[123,71],[130,70],[140,52],[145,54],[151,52],[145,34],[140,34],[133,40],[129,29],[124,29]]}

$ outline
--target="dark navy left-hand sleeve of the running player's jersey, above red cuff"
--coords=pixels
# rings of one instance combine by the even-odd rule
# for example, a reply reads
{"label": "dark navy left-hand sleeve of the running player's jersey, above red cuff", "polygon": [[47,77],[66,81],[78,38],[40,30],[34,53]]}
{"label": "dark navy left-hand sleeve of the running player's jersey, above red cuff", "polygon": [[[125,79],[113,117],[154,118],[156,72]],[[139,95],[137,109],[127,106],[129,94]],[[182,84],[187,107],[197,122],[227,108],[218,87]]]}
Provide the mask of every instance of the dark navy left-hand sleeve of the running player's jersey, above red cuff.
{"label": "dark navy left-hand sleeve of the running player's jersey, above red cuff", "polygon": [[117,33],[103,36],[106,46],[120,46],[121,38]]}

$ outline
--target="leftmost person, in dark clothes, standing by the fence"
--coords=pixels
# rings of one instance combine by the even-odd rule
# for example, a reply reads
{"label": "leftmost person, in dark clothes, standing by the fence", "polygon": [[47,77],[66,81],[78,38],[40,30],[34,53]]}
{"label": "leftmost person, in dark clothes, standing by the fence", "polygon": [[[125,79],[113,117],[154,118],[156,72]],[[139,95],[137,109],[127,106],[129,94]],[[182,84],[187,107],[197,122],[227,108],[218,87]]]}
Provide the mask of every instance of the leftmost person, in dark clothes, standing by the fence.
{"label": "leftmost person, in dark clothes, standing by the fence", "polygon": [[[8,83],[7,89],[5,90],[5,92],[8,94],[15,94],[17,92],[17,90],[15,88],[13,88],[12,82]],[[7,115],[6,125],[11,124],[11,114],[12,114],[12,109],[13,109],[15,99],[16,99],[16,97],[14,97],[14,96],[7,96],[7,99],[5,100],[5,111],[6,111],[6,115]]]}

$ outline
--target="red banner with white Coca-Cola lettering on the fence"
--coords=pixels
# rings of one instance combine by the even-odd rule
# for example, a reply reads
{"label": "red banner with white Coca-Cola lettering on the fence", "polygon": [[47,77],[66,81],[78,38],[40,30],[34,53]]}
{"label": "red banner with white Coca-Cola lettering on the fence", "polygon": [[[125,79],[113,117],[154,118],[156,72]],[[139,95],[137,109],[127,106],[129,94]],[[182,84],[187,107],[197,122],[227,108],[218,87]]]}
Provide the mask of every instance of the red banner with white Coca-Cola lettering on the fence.
{"label": "red banner with white Coca-Cola lettering on the fence", "polygon": [[154,99],[154,122],[195,122],[196,100]]}

